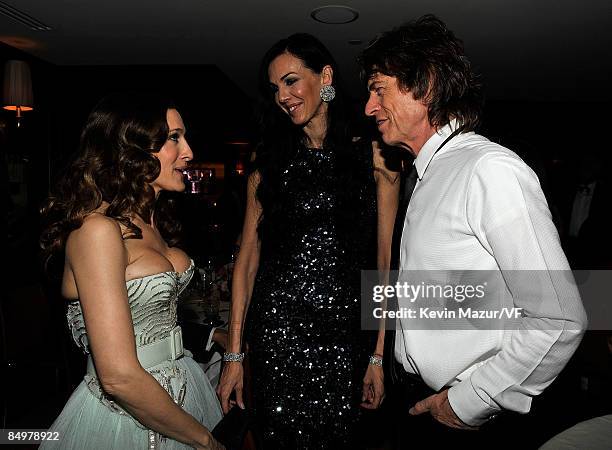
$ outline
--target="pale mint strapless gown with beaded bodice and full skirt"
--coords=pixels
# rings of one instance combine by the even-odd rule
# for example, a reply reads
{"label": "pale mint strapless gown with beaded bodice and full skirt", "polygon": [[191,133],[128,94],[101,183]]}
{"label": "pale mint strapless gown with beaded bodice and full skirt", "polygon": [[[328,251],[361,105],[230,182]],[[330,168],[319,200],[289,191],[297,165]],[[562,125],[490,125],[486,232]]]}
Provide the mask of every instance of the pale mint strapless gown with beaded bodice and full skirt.
{"label": "pale mint strapless gown with beaded bodice and full skirt", "polygon": [[[194,264],[183,273],[163,272],[127,282],[136,345],[163,339],[176,326],[178,296],[187,286]],[[87,332],[78,301],[68,307],[68,325],[77,345],[89,353]],[[191,353],[147,369],[181,408],[209,430],[221,420],[217,396]],[[186,449],[178,441],[148,430],[124,411],[100,388],[96,377],[85,375],[49,431],[59,441],[45,441],[40,448],[60,449]]]}

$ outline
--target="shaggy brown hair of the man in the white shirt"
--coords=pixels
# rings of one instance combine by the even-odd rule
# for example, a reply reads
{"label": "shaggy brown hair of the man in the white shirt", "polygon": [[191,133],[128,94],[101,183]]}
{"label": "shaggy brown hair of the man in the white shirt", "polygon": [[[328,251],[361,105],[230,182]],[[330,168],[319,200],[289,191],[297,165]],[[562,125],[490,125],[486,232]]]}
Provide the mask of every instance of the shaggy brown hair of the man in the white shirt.
{"label": "shaggy brown hair of the man in the white shirt", "polygon": [[483,97],[480,78],[465,56],[463,43],[444,22],[428,14],[376,38],[361,54],[362,77],[396,77],[428,107],[429,122],[442,127],[456,119],[462,131],[480,121]]}

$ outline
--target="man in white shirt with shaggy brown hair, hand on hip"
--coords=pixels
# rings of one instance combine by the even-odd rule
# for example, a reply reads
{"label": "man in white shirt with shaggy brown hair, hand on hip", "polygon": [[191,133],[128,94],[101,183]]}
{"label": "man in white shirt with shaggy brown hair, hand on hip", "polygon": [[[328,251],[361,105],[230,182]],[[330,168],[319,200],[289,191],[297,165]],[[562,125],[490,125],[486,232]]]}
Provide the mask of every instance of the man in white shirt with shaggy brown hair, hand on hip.
{"label": "man in white shirt with shaggy brown hair, hand on hip", "polygon": [[[435,392],[406,409],[454,429],[476,429],[504,410],[526,413],[586,327],[538,179],[515,153],[474,133],[480,84],[461,41],[436,17],[383,33],[361,64],[366,115],[386,144],[415,157],[400,277],[415,270],[499,273],[510,303],[522,308],[518,329],[415,330],[398,319],[395,358]],[[525,280],[518,271],[544,278],[541,299],[523,295],[530,286],[518,282]]]}

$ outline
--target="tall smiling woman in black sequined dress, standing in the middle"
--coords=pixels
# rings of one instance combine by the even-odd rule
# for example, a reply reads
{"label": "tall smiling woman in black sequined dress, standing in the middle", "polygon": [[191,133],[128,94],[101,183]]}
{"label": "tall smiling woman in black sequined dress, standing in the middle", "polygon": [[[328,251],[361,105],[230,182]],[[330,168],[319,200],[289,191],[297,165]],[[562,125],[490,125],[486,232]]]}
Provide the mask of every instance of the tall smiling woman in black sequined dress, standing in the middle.
{"label": "tall smiling woman in black sequined dress, standing in the middle", "polygon": [[[265,449],[357,448],[359,405],[377,407],[383,394],[382,369],[368,365],[382,339],[367,342],[360,329],[360,271],[376,269],[377,243],[388,267],[396,175],[372,142],[353,137],[335,62],[314,37],[279,41],[260,79],[270,108],[249,177],[228,351],[241,351],[248,308]],[[233,391],[243,405],[242,389],[241,362],[226,363],[224,410]]]}

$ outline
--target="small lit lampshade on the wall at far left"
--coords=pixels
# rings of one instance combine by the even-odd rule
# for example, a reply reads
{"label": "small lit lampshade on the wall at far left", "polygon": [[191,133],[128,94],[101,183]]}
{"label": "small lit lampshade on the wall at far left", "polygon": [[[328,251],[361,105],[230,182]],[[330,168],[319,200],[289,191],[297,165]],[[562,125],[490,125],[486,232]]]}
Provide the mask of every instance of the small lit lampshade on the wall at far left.
{"label": "small lit lampshade on the wall at far left", "polygon": [[17,111],[18,118],[22,111],[32,111],[32,77],[27,62],[10,60],[4,65],[3,105],[4,109]]}

